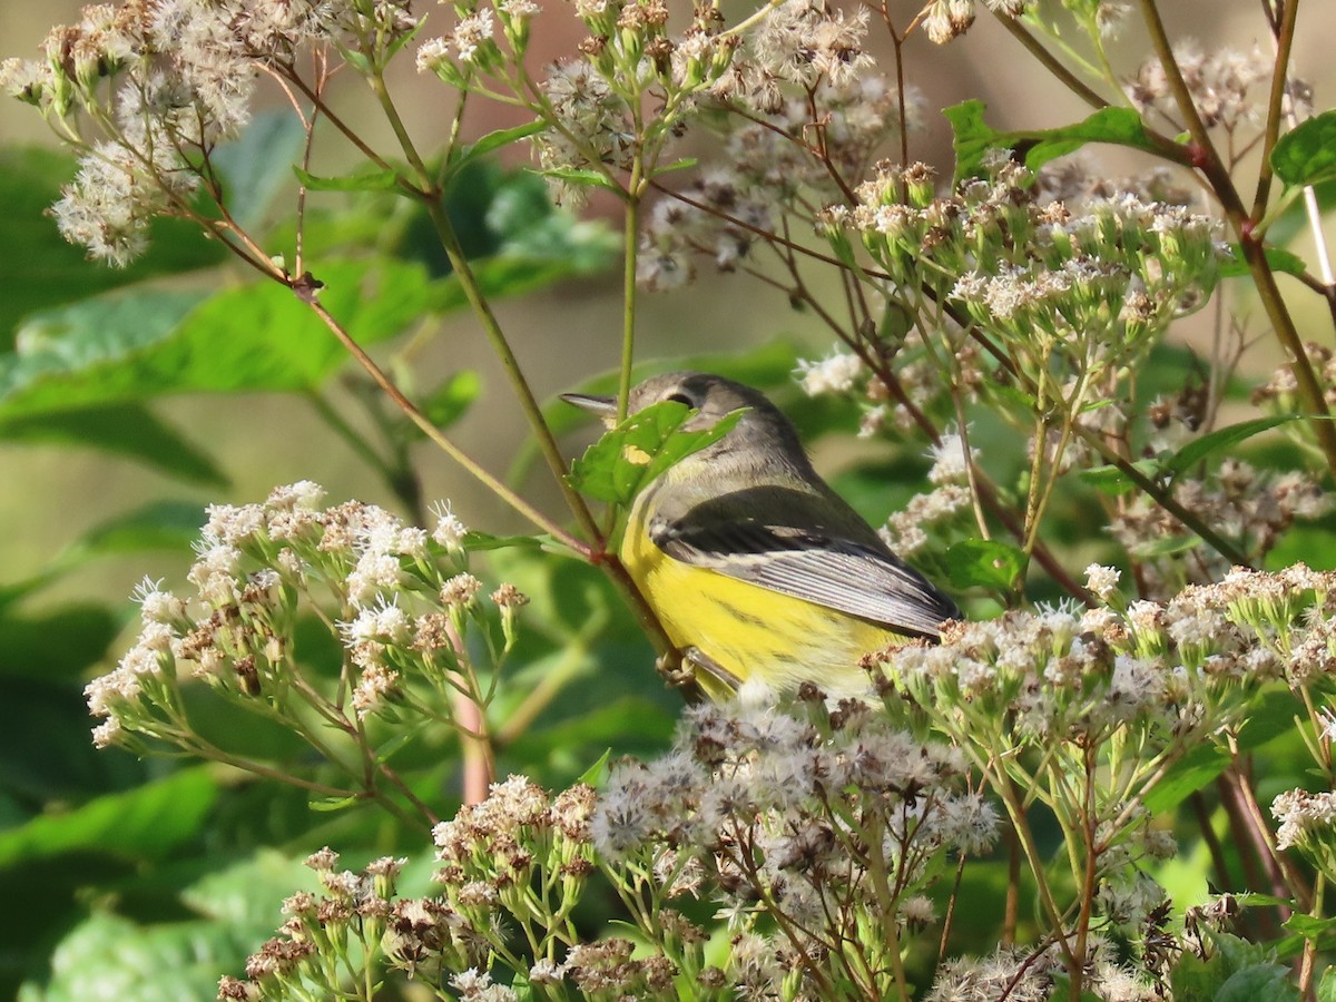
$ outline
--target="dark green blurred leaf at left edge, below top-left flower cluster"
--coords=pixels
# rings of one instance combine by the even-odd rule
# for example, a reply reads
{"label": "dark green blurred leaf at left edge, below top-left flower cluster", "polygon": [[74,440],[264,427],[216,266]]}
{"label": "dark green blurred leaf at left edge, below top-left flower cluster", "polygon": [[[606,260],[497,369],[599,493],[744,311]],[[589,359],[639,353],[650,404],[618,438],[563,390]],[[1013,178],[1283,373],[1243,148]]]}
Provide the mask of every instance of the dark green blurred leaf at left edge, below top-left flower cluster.
{"label": "dark green blurred leaf at left edge, below top-left flower cluster", "polygon": [[56,231],[45,210],[75,175],[71,156],[39,147],[0,150],[0,246],[5,255],[0,295],[0,350],[13,343],[19,319],[36,310],[167,275],[216,265],[227,251],[180,219],[152,224],[148,253],[126,269],[90,263],[80,247]]}

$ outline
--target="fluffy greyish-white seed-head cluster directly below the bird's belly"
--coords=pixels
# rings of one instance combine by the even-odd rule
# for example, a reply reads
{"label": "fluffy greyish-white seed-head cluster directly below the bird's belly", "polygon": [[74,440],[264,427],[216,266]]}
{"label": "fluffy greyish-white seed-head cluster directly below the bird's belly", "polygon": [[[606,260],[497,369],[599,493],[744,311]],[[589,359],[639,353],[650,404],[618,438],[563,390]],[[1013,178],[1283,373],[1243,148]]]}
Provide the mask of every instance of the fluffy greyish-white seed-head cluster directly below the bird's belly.
{"label": "fluffy greyish-white seed-head cluster directly below the bird's belly", "polygon": [[[593,819],[600,855],[653,870],[669,895],[704,894],[713,875],[709,895],[745,945],[723,977],[751,995],[800,974],[794,945],[822,965],[831,942],[854,937],[875,959],[886,939],[878,927],[862,942],[859,915],[922,929],[933,908],[921,894],[941,867],[986,854],[998,831],[957,749],[916,741],[862,701],[830,709],[811,689],[800,700],[786,709],[744,688],[739,703],[693,707],[668,755],[613,771]],[[758,925],[758,900],[782,934]]]}

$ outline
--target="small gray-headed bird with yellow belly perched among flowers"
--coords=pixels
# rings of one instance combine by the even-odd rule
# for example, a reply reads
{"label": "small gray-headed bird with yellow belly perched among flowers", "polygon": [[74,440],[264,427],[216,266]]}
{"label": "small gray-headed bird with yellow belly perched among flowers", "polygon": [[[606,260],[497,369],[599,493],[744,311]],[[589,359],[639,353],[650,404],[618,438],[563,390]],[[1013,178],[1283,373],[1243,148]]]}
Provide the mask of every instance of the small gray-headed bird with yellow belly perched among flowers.
{"label": "small gray-headed bird with yellow belly perched among flowers", "polygon": [[[612,397],[562,399],[616,417]],[[628,413],[665,399],[697,411],[687,430],[744,411],[636,496],[619,548],[707,695],[725,699],[748,679],[776,692],[811,681],[831,696],[867,695],[863,655],[935,640],[961,617],[818,476],[762,393],[708,373],[665,373],[631,390]]]}

